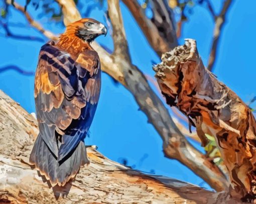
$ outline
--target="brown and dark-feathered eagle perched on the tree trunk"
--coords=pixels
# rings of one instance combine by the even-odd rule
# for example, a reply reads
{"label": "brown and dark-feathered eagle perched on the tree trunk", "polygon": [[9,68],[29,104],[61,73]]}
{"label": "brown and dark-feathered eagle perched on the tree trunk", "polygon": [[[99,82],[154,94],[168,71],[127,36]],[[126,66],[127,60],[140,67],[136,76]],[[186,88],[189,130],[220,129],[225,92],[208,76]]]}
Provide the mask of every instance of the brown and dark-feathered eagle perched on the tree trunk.
{"label": "brown and dark-feathered eagle perched on the tree trunk", "polygon": [[90,43],[106,33],[100,22],[81,19],[41,47],[34,89],[39,135],[30,162],[52,186],[65,185],[89,162],[84,139],[101,86],[99,57]]}

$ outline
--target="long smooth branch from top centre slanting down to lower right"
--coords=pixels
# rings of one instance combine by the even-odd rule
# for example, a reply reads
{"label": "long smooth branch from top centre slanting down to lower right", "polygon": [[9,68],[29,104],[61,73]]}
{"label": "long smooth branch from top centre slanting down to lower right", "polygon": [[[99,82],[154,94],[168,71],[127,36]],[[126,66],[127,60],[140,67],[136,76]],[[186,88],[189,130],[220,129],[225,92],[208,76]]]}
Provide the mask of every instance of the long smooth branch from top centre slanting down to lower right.
{"label": "long smooth branch from top centre slanting down to lower right", "polygon": [[[108,0],[108,5],[110,6],[108,7],[108,12],[114,28],[113,31],[123,33],[123,25],[122,21],[120,21],[121,17],[116,16],[121,15],[119,0]],[[113,9],[113,7],[115,8]],[[120,48],[125,48],[125,34],[115,34],[113,38],[115,37],[114,42]],[[127,55],[129,54],[127,53]],[[185,136],[175,125],[167,109],[163,106],[162,101],[149,87],[145,76],[131,63],[130,56],[127,55],[115,55],[114,60],[124,73],[127,89],[133,93],[138,104],[147,114],[149,122],[160,133],[164,142],[163,148],[165,155],[185,164],[211,186],[214,186],[216,190],[223,190],[225,188],[225,179],[218,167],[208,161],[203,154],[187,142]],[[216,177],[213,178],[213,175]]]}

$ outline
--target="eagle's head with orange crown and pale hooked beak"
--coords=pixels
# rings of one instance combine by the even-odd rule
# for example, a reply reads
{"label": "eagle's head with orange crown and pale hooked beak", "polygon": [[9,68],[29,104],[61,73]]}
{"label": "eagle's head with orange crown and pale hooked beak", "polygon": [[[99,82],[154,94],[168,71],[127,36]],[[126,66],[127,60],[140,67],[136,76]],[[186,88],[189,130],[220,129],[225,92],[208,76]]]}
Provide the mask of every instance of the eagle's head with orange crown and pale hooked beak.
{"label": "eagle's head with orange crown and pale hooked beak", "polygon": [[92,42],[100,35],[106,36],[107,34],[106,27],[94,19],[81,19],[77,22],[70,24],[67,27],[67,31],[68,30],[71,32],[75,31],[75,35],[78,38],[88,43]]}

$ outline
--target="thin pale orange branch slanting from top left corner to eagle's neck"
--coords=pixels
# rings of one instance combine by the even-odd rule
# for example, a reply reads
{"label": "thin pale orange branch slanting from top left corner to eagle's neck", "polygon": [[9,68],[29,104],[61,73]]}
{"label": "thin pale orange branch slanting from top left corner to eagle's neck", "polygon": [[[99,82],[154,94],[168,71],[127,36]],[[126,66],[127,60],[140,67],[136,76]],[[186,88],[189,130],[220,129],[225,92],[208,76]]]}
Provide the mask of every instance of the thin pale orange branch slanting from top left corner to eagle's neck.
{"label": "thin pale orange branch slanting from top left corner to eagle's neck", "polygon": [[25,11],[25,9],[22,6],[20,6],[16,2],[13,2],[12,0],[7,0],[6,2],[9,5],[13,5],[15,7],[15,9],[17,9],[18,11],[23,13],[25,15],[26,19],[28,20],[28,22],[30,23],[30,25],[32,27],[34,27],[35,29],[37,29],[38,31],[40,31],[44,36],[46,36],[47,38],[52,39],[52,40],[58,39],[52,32],[43,29],[43,27],[38,22],[34,21],[33,18],[29,15],[28,12]]}

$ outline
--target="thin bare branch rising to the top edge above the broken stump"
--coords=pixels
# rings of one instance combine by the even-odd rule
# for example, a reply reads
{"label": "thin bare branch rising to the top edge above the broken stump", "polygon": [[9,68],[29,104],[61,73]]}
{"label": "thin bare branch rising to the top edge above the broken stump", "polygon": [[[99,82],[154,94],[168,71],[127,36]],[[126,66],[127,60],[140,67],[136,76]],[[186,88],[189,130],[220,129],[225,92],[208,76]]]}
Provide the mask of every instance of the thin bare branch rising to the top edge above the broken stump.
{"label": "thin bare branch rising to the top edge above the broken stump", "polygon": [[228,9],[231,6],[232,0],[225,0],[223,8],[218,16],[215,16],[215,27],[213,32],[213,42],[211,46],[211,52],[210,57],[208,61],[208,70],[212,71],[214,64],[216,62],[216,52],[220,40],[221,31],[223,29],[224,24],[226,23],[226,15],[228,12]]}

